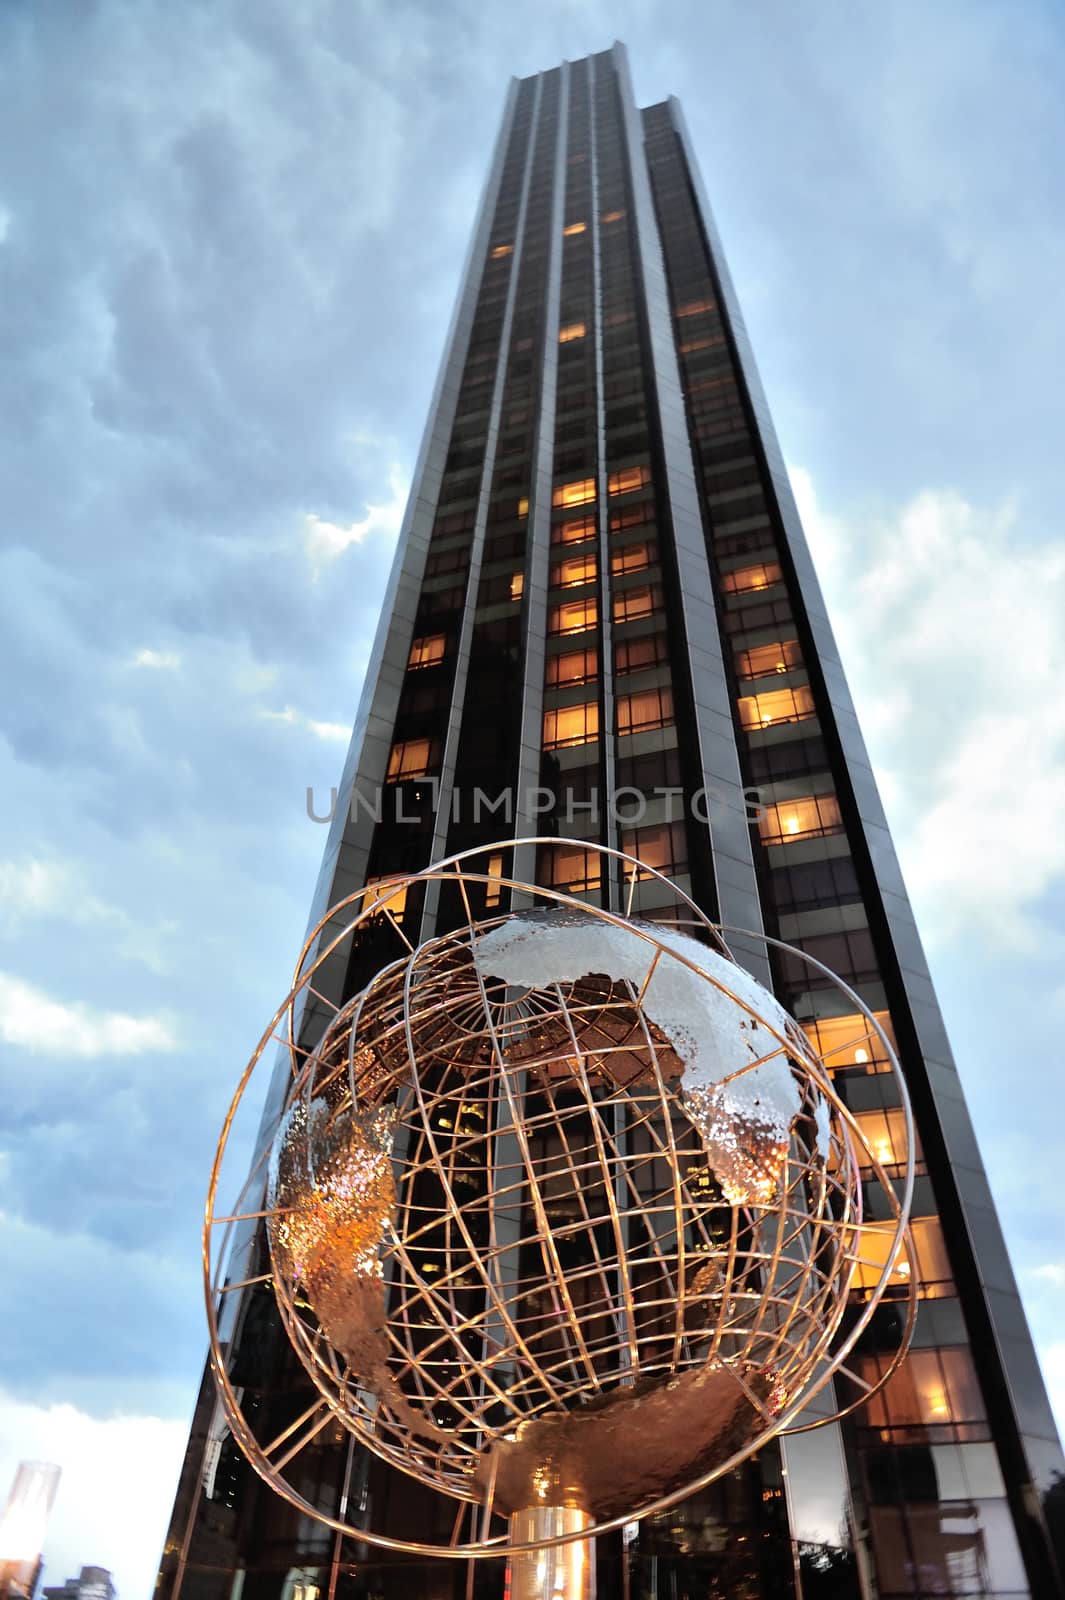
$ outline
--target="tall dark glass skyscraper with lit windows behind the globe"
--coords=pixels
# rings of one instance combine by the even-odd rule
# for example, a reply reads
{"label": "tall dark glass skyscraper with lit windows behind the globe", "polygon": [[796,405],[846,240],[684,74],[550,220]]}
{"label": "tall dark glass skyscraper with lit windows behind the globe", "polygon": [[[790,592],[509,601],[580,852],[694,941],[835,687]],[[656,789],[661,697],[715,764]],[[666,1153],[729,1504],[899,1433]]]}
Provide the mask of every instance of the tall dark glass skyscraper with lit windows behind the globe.
{"label": "tall dark glass skyscraper with lit windows behind the globe", "polygon": [[[491,870],[619,906],[582,848],[603,842],[840,973],[897,1042],[921,1146],[902,1371],[843,1424],[600,1541],[601,1592],[1063,1594],[1049,1510],[1065,1462],[784,461],[680,107],[636,109],[620,46],[510,88],[312,926],[365,882],[536,835]],[[657,883],[635,896],[664,914]],[[392,910],[414,941],[448,917],[432,890]],[[857,1019],[808,968],[732,942],[897,1162],[902,1118]],[[395,954],[382,922],[328,998]],[[307,1040],[315,1022],[309,1005]],[[269,1290],[227,1317],[245,1411],[275,1434],[305,1378]],[[891,1304],[875,1326],[870,1376],[897,1338]],[[344,1437],[301,1461],[325,1510],[446,1539],[453,1507]],[[501,1595],[502,1566],[473,1581]],[[160,1595],[437,1600],[465,1582],[297,1518],[205,1376]]]}

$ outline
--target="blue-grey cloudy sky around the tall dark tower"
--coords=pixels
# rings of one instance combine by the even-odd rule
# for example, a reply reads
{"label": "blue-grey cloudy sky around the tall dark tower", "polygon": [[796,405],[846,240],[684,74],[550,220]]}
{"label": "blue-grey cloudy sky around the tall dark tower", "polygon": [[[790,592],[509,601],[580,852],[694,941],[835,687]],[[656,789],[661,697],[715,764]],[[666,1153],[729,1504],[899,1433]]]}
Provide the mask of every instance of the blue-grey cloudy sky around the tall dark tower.
{"label": "blue-grey cloudy sky around the tall dark tower", "polygon": [[686,107],[1065,1418],[1065,30],[1038,0],[0,6],[0,1494],[149,1594],[507,78]]}

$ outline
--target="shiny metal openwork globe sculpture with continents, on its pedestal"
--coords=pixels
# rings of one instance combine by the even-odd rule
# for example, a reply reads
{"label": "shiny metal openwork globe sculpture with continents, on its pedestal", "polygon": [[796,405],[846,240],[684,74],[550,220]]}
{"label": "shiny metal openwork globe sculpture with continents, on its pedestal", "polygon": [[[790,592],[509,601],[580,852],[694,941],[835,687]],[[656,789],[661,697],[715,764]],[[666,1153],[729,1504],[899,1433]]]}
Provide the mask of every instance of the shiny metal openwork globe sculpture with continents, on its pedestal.
{"label": "shiny metal openwork globe sculpture with continents, on its pedestal", "polygon": [[[603,856],[632,885],[656,877]],[[430,885],[461,915],[414,944],[397,907]],[[520,909],[491,909],[507,890]],[[803,1411],[846,1373],[889,1285],[903,1298],[910,1285],[911,1320],[911,1163],[902,1184],[888,1178],[803,1029],[680,893],[672,915],[489,877],[473,853],[371,885],[309,939],[213,1174],[216,1379],[253,1466],[365,1542],[507,1552],[515,1600],[587,1600],[595,1533],[809,1426]],[[382,926],[401,954],[329,1005],[323,974]],[[233,1112],[281,1027],[285,1102],[221,1216]],[[465,1504],[470,1538],[435,1547],[325,1517],[285,1478],[299,1430],[256,1438],[217,1310],[240,1286],[227,1251],[251,1219],[317,1390],[307,1427],[339,1424]],[[908,1326],[895,1362],[907,1339]],[[833,1414],[822,1403],[819,1419]]]}

